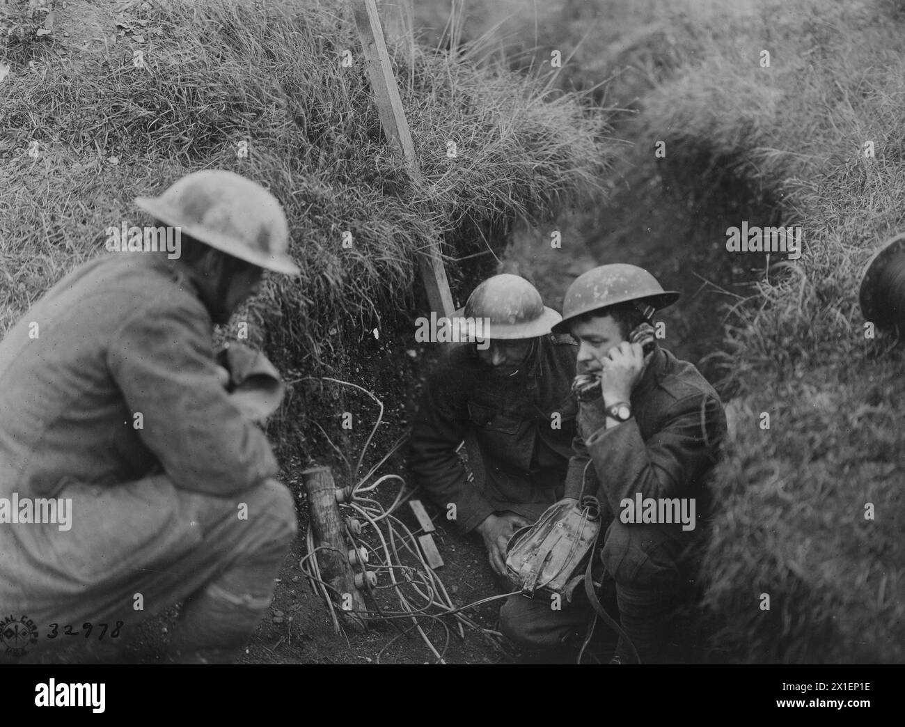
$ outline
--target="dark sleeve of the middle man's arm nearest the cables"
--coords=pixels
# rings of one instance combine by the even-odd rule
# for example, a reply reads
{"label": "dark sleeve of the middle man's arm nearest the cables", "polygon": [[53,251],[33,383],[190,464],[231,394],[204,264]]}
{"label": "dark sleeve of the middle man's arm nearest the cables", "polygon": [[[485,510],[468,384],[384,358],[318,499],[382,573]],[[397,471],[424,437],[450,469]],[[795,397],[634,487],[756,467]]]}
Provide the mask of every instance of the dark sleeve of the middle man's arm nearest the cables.
{"label": "dark sleeve of the middle man's arm nearest the cables", "polygon": [[409,467],[414,481],[443,511],[455,504],[456,523],[472,531],[493,508],[468,482],[455,450],[468,431],[467,387],[448,361],[433,370],[409,439]]}

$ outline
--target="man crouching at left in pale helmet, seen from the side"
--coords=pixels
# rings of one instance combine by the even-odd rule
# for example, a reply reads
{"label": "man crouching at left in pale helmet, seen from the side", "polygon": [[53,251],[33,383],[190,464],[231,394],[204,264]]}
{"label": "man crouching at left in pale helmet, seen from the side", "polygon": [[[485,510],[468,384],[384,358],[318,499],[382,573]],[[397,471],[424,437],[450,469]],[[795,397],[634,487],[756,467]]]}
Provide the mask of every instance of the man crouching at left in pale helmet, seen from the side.
{"label": "man crouching at left in pale helmet, seen from the side", "polygon": [[181,255],[85,263],[0,342],[0,498],[71,504],[65,529],[0,524],[0,613],[30,619],[38,650],[110,643],[182,602],[173,658],[228,662],[271,603],[296,514],[224,388],[213,325],[263,268],[300,271],[279,202],[232,172],[136,203],[181,230]]}

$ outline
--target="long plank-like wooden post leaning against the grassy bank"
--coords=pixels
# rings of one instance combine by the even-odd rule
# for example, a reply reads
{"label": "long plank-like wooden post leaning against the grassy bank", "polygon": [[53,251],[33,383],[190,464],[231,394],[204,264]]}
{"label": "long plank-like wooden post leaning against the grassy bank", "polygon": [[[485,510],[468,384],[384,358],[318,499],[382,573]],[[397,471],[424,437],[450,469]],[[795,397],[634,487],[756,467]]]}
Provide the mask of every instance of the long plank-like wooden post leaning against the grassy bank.
{"label": "long plank-like wooden post leaning against the grassy bank", "polygon": [[[353,0],[352,9],[358,37],[361,39],[361,47],[367,61],[367,74],[371,80],[371,89],[374,91],[380,124],[390,146],[402,152],[409,171],[418,180],[421,178],[421,170],[414,156],[412,133],[405,119],[399,86],[393,75],[389,54],[386,53],[386,41],[380,17],[377,15],[377,6],[374,0]],[[446,269],[443,267],[440,245],[436,240],[428,241],[425,253],[426,256],[419,262],[419,268],[427,291],[427,300],[433,311],[442,312],[447,317],[452,316],[454,312],[452,293],[446,278]]]}

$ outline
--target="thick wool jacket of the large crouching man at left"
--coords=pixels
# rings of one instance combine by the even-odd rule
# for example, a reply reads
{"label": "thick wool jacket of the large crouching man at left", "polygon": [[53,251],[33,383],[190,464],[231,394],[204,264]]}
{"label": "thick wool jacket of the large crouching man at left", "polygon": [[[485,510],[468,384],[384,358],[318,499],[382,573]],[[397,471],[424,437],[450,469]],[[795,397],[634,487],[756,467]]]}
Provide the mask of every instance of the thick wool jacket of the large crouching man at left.
{"label": "thick wool jacket of the large crouching man at left", "polygon": [[[81,265],[0,342],[0,492],[53,496],[163,472],[226,496],[277,474],[216,376],[192,272],[130,253]],[[33,331],[33,335],[30,332]]]}

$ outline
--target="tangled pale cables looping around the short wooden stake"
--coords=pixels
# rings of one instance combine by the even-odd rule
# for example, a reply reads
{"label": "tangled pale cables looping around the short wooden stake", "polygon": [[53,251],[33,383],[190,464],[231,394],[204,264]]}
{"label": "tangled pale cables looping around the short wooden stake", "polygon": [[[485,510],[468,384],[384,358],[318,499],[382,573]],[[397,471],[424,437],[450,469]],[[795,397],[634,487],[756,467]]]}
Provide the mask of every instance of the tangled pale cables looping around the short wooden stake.
{"label": "tangled pale cables looping around the short wooden stake", "polygon": [[[412,497],[415,492],[414,489],[406,491],[405,480],[398,474],[384,474],[370,482],[377,470],[405,443],[407,435],[401,436],[395,442],[395,445],[390,448],[389,452],[371,467],[367,474],[356,481],[367,447],[370,445],[377,427],[380,426],[383,419],[384,405],[380,399],[370,391],[367,391],[367,389],[337,378],[316,379],[314,377],[305,377],[295,379],[289,383],[294,384],[306,379],[329,381],[354,387],[371,397],[380,409],[375,425],[367,436],[365,445],[362,447],[361,454],[354,467],[351,466],[339,448],[330,441],[329,435],[318,425],[321,433],[327,437],[329,445],[348,464],[351,470],[351,479],[355,483],[342,491],[338,491],[342,493],[338,498],[340,501],[339,509],[340,512],[346,515],[348,541],[352,543],[354,551],[358,554],[356,557],[359,562],[367,563],[368,570],[376,574],[386,573],[389,577],[389,582],[382,585],[379,584],[379,575],[377,579],[373,580],[364,577],[361,579],[362,588],[360,590],[367,597],[367,600],[370,601],[370,604],[373,605],[374,610],[362,611],[360,609],[341,608],[343,614],[357,619],[362,625],[381,620],[392,624],[399,631],[377,653],[376,662],[380,663],[380,656],[396,640],[415,631],[433,654],[434,663],[445,664],[443,656],[450,645],[451,627],[462,639],[465,638],[466,627],[477,631],[491,646],[499,650],[500,633],[481,627],[471,617],[466,616],[463,611],[493,600],[508,598],[512,594],[506,593],[499,596],[491,596],[490,598],[482,598],[467,606],[456,607],[452,603],[452,598],[450,598],[446,587],[443,585],[443,581],[424,560],[416,540],[416,535],[422,532],[422,529],[419,528],[412,531],[405,525],[405,522],[395,516],[395,512],[398,511],[399,507]],[[377,502],[373,496],[367,496],[375,493],[377,488],[383,483],[398,483],[399,485],[399,490],[395,494],[392,504],[387,508]],[[327,604],[333,629],[339,634],[343,629],[337,614],[337,605],[341,601],[342,594],[338,593],[336,588],[333,588],[321,578],[318,552],[319,550],[325,550],[327,547],[315,545],[310,523],[305,535],[305,544],[307,554],[300,560],[300,568],[309,580],[312,590],[319,594]],[[329,550],[336,549],[331,548]],[[393,591],[395,600],[398,603],[398,609],[391,610],[388,607],[386,601],[392,600],[393,597],[384,596],[384,591]],[[514,593],[518,593],[518,591],[514,591]],[[410,621],[411,625],[404,628],[397,623],[398,621]],[[443,628],[442,646],[438,646],[439,640],[438,644],[434,644],[431,639],[434,627],[437,626]]]}

